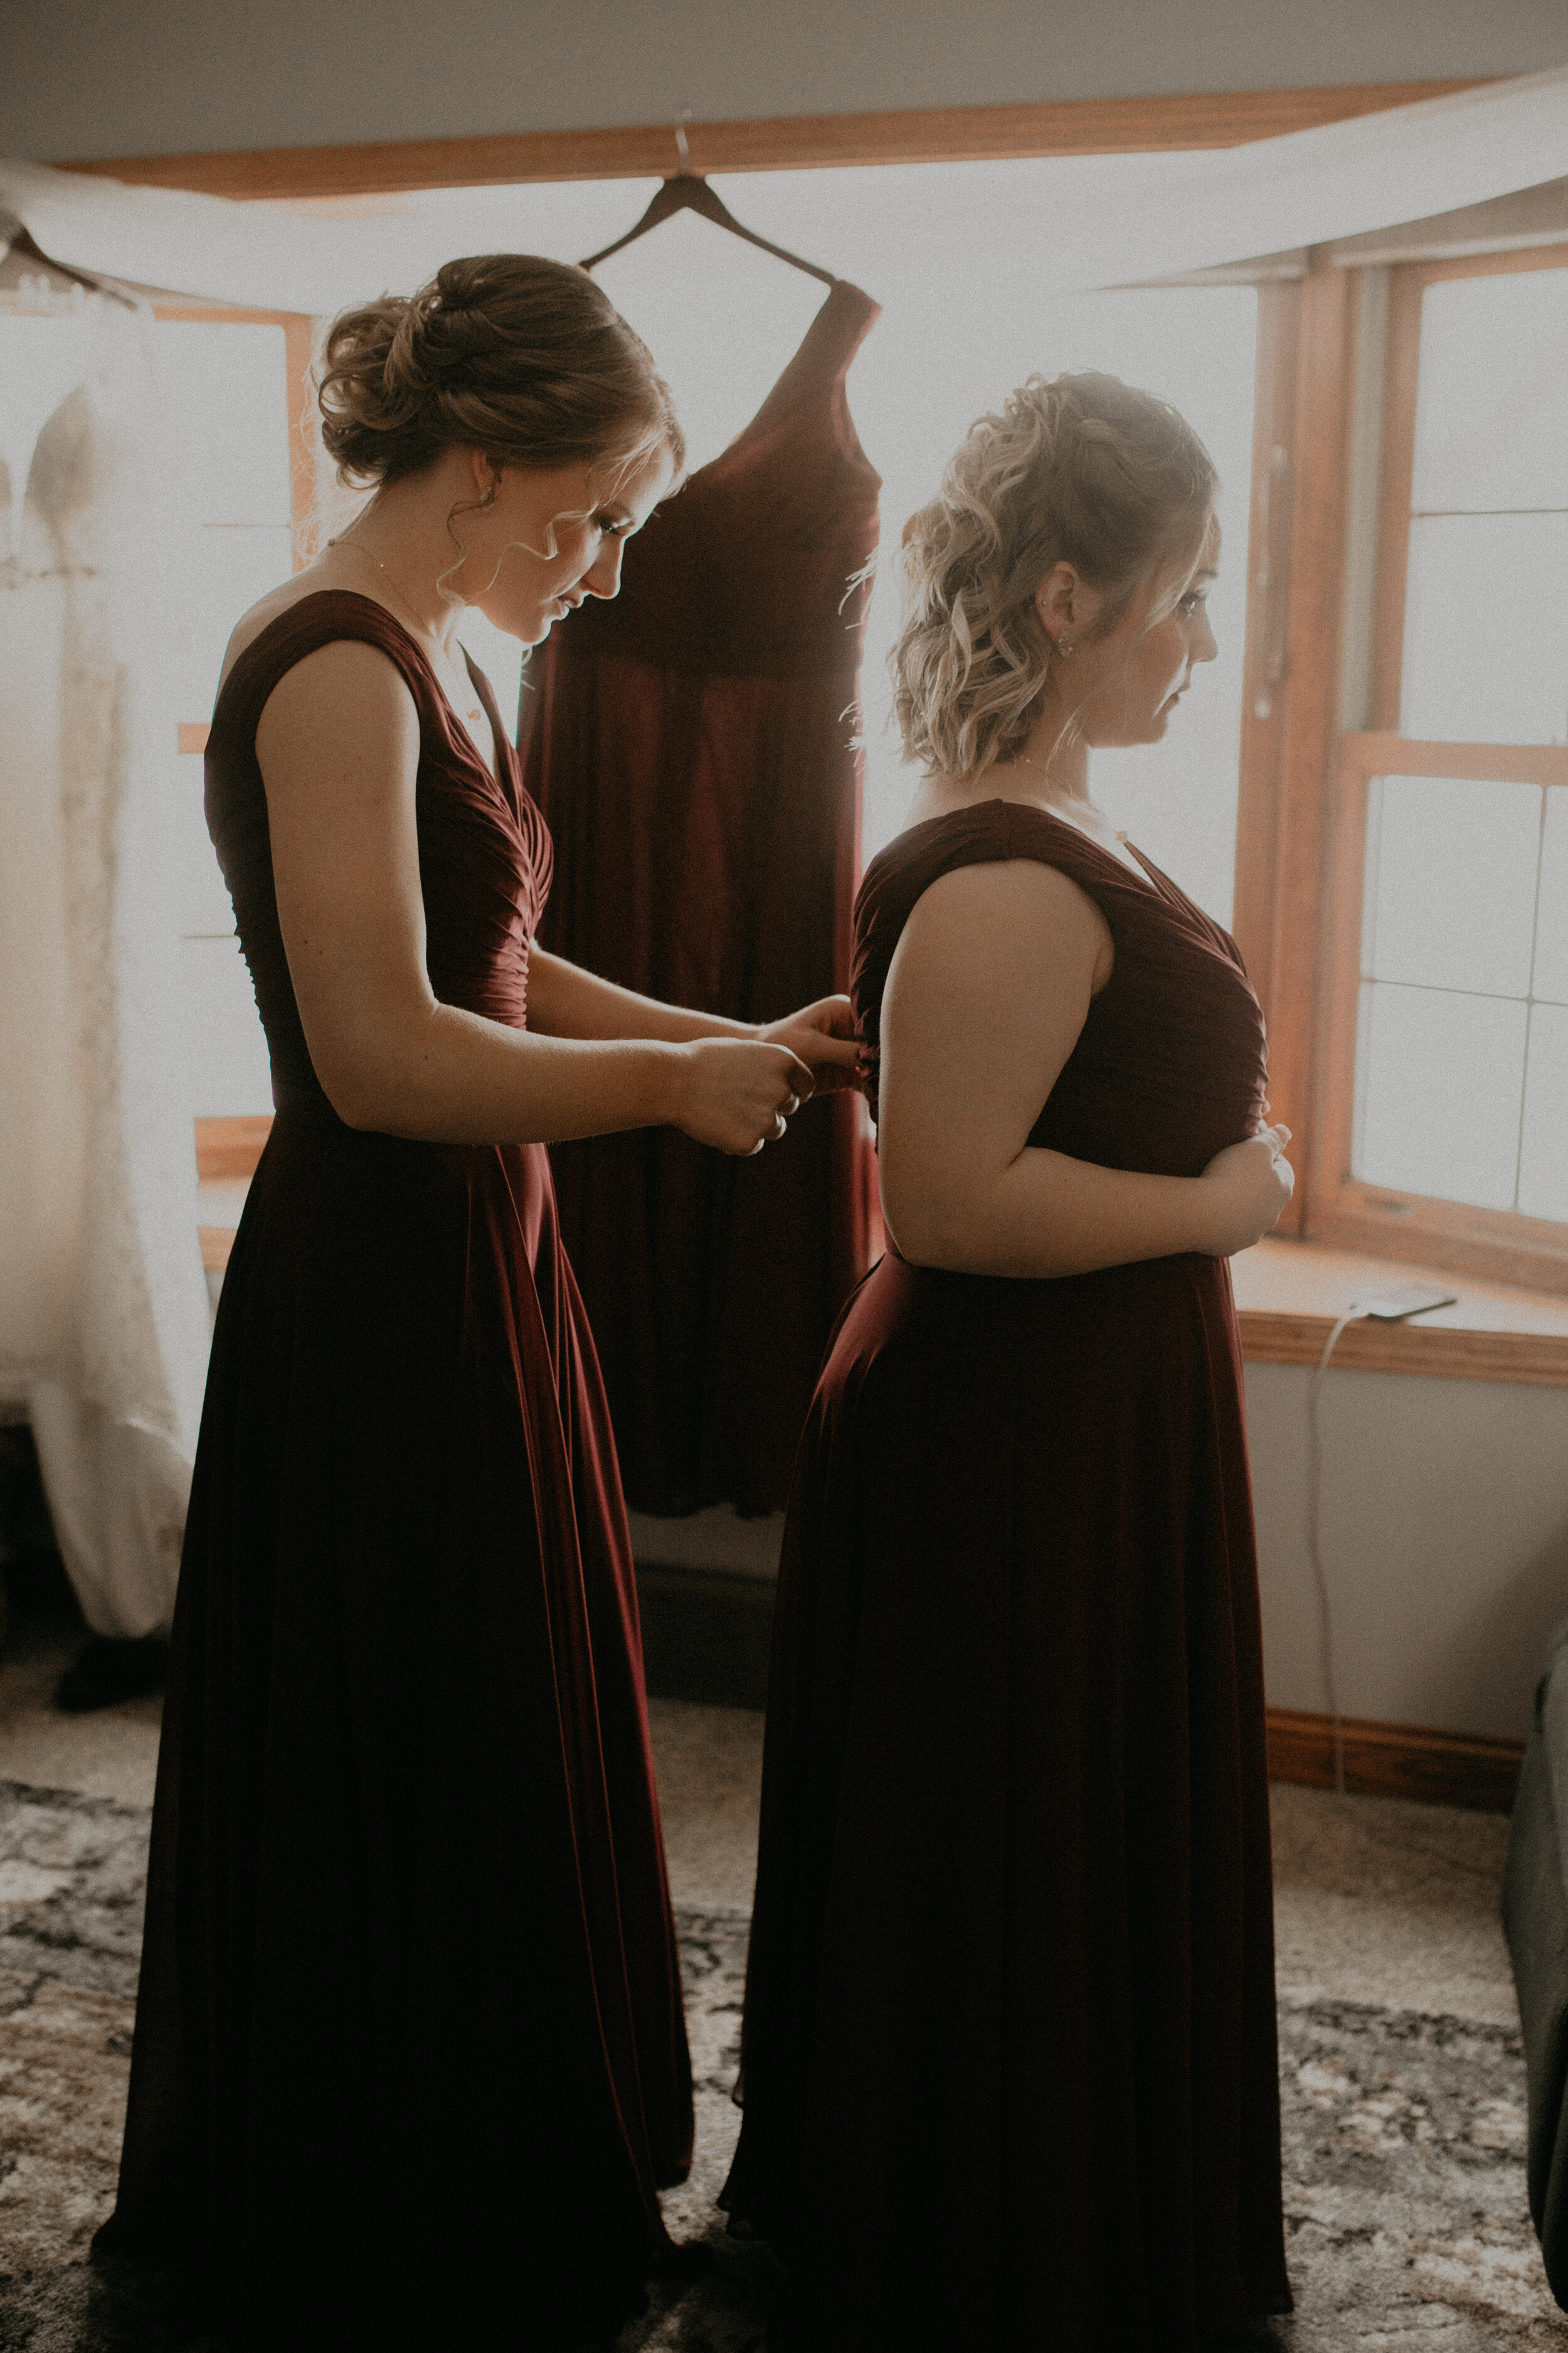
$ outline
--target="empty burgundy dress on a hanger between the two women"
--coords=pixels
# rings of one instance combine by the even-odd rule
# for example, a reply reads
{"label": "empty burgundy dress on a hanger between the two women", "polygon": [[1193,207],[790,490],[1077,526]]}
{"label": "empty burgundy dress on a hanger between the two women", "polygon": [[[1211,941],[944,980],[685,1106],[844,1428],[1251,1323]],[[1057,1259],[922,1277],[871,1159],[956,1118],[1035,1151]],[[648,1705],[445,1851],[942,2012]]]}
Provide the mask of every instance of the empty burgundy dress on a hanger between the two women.
{"label": "empty burgundy dress on a hanger between the two women", "polygon": [[[856,675],[879,480],[844,376],[877,306],[835,285],[769,400],[630,541],[621,595],[529,666],[555,835],[541,944],[672,1005],[771,1021],[846,986]],[[773,1511],[865,1266],[856,1096],[724,1160],[672,1129],[550,1151],[562,1235],[644,1511]]]}

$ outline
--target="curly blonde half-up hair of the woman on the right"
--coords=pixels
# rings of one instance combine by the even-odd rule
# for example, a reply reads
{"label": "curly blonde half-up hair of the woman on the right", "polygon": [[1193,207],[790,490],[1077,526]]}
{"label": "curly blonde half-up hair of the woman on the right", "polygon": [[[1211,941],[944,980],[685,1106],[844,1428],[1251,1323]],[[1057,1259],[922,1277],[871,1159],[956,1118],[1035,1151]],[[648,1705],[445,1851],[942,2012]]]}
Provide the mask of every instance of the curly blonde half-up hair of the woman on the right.
{"label": "curly blonde half-up hair of the woman on the right", "polygon": [[1074,565],[1105,595],[1103,635],[1143,581],[1197,560],[1215,492],[1185,416],[1117,376],[1030,376],[980,416],[903,534],[891,671],[905,758],[971,776],[1020,753],[1056,656],[1039,584]]}

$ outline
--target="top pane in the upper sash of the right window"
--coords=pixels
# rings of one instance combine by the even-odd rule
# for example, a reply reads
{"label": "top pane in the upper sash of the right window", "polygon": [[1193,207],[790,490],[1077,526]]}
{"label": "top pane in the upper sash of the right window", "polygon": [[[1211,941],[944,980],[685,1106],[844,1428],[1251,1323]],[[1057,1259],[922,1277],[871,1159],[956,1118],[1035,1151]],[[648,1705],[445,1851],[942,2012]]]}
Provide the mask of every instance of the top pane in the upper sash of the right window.
{"label": "top pane in the upper sash of the right window", "polygon": [[1568,506],[1568,271],[1427,287],[1410,506]]}

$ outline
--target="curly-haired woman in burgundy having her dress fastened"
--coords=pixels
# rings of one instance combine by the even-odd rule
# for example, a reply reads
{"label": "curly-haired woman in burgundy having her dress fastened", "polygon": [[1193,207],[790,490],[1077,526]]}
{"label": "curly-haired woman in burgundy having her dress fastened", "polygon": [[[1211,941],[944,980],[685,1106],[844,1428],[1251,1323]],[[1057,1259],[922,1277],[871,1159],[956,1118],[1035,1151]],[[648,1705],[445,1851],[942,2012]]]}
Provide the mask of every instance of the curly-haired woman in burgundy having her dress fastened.
{"label": "curly-haired woman in burgundy having her dress fastened", "polygon": [[1208,452],[1030,379],[903,536],[856,906],[889,1249],[797,1459],[724,2202],[771,2353],[1291,2308],[1227,1257],[1291,1198],[1234,941],[1088,795],[1213,661]]}

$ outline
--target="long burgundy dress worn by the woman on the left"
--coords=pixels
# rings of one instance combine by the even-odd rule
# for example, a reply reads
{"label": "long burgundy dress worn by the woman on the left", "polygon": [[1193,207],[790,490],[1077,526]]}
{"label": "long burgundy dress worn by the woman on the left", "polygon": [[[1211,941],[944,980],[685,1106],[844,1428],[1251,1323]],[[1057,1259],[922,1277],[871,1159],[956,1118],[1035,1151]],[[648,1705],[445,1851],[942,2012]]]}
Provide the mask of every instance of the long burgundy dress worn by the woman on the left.
{"label": "long burgundy dress worn by the woman on the left", "polygon": [[343,638],[418,708],[435,995],[522,1028],[550,887],[480,673],[498,781],[369,598],[237,656],[207,821],[277,1118],[212,1346],[103,2240],[270,2353],[576,2344],[672,2257],[656,2184],[691,2160],[632,1562],[545,1148],[355,1132],[310,1066],[254,746]]}

